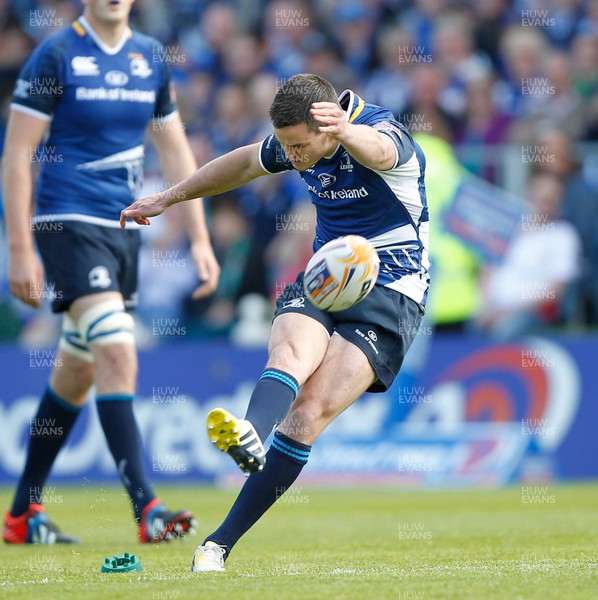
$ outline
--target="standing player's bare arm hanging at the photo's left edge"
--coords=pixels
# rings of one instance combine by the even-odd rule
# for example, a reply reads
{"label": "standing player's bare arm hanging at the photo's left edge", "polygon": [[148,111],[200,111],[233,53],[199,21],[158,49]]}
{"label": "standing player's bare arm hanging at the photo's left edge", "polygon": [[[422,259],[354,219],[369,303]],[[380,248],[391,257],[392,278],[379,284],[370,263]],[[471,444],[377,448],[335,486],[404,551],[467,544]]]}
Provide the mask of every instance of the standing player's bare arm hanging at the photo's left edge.
{"label": "standing player's bare arm hanging at the photo's left edge", "polygon": [[44,270],[35,253],[31,232],[31,156],[47,126],[48,121],[43,118],[12,109],[2,159],[4,218],[10,252],[8,282],[16,298],[35,307],[41,305],[38,292],[42,289]]}

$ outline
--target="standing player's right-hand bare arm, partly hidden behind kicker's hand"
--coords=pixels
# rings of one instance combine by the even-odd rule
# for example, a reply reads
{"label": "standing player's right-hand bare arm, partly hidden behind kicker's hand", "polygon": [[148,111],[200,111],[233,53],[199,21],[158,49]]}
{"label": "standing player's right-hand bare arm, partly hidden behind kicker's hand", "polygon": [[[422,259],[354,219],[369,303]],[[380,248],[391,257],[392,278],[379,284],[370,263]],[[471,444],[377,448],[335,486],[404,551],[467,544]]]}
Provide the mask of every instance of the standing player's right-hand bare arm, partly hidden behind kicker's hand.
{"label": "standing player's right-hand bare arm, partly hidden behind kicker's hand", "polygon": [[[197,164],[178,112],[167,122],[161,122],[160,127],[150,127],[149,131],[166,181],[178,183],[195,171]],[[185,202],[180,206],[180,210],[191,242],[191,256],[202,281],[193,292],[193,298],[202,298],[216,289],[220,276],[220,266],[214,256],[206,225],[203,199]]]}

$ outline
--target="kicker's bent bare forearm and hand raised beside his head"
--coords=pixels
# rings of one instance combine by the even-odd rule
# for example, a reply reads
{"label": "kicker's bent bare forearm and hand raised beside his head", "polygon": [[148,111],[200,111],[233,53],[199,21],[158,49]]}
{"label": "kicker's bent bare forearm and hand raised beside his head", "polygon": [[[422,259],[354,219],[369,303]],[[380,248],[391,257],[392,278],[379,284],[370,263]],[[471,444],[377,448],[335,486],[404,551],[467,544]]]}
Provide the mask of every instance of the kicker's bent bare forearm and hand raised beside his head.
{"label": "kicker's bent bare forearm and hand raised beside his head", "polygon": [[397,148],[392,139],[369,125],[348,123],[345,112],[333,102],[315,102],[311,114],[327,133],[343,145],[360,164],[377,171],[392,169],[397,163]]}

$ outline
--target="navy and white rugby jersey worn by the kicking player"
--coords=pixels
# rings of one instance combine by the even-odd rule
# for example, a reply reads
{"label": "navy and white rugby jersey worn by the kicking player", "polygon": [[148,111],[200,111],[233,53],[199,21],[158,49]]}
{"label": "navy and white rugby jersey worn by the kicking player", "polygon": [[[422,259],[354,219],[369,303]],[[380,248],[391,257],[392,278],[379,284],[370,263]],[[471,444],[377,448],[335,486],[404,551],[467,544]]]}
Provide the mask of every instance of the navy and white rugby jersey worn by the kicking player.
{"label": "navy and white rugby jersey worn by the kicking player", "polygon": [[[316,206],[314,251],[340,236],[361,235],[380,257],[376,284],[425,306],[430,265],[424,154],[390,111],[367,104],[351,90],[344,91],[339,102],[349,122],[388,135],[397,160],[388,170],[370,169],[339,144],[332,156],[299,171]],[[269,173],[294,169],[274,134],[262,142],[260,162]]]}

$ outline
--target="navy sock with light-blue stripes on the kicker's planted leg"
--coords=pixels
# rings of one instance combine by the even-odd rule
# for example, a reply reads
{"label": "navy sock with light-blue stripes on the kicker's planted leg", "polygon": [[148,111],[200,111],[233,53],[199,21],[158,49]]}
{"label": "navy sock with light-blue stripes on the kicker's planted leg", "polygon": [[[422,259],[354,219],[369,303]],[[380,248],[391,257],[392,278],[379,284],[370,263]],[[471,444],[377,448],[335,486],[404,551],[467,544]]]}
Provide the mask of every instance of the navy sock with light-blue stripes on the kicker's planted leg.
{"label": "navy sock with light-blue stripes on the kicker's planted leg", "polygon": [[250,475],[220,527],[205,540],[226,547],[228,557],[239,538],[299,477],[311,446],[277,431],[266,454],[264,470]]}

